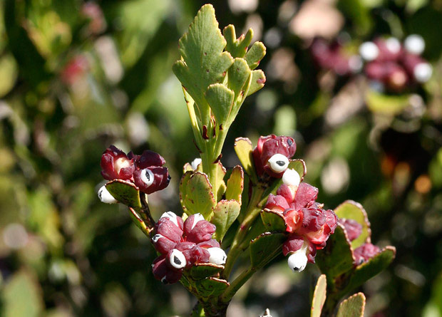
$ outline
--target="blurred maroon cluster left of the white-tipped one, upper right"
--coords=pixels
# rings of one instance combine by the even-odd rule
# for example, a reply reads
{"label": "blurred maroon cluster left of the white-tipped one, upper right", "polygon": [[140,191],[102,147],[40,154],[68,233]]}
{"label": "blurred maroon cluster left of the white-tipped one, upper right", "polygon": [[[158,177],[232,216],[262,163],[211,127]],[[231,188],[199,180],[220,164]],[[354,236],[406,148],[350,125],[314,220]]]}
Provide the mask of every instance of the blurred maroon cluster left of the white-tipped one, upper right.
{"label": "blurred maroon cluster left of the white-tipped one, upper right", "polygon": [[361,71],[361,56],[347,53],[339,41],[328,43],[324,38],[315,38],[310,51],[317,66],[334,71],[340,76]]}

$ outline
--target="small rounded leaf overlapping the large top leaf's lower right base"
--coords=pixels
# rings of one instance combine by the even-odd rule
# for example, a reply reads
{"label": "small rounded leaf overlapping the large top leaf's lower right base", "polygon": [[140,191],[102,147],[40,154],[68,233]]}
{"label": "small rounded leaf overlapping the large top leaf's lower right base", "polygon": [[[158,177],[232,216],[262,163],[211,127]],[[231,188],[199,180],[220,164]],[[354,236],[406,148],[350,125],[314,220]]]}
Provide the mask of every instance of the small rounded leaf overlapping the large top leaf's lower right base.
{"label": "small rounded leaf overlapping the large top leaf's lower right base", "polygon": [[207,88],[205,97],[215,115],[217,125],[226,125],[232,110],[235,93],[225,85],[215,83]]}

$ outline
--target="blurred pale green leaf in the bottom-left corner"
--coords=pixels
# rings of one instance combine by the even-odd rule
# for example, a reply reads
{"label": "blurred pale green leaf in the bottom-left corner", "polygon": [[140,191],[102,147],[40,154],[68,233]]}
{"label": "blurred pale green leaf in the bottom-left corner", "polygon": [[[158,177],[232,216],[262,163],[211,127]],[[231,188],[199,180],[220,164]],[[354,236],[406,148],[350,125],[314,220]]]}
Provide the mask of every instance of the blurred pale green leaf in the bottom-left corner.
{"label": "blurred pale green leaf in the bottom-left corner", "polygon": [[34,276],[18,271],[11,276],[1,292],[2,316],[38,317],[43,313],[41,289]]}

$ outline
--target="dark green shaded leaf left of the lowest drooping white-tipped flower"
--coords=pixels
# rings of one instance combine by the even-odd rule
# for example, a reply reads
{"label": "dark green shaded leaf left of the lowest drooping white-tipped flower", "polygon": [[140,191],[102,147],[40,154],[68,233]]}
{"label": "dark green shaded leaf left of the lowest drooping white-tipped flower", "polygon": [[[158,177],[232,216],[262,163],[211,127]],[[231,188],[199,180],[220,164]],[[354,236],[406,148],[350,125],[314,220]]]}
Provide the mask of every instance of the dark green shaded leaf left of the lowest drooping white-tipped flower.
{"label": "dark green shaded leaf left of the lowest drooping white-tipped flower", "polygon": [[272,261],[282,250],[285,234],[264,232],[250,242],[250,261],[252,267],[262,268]]}

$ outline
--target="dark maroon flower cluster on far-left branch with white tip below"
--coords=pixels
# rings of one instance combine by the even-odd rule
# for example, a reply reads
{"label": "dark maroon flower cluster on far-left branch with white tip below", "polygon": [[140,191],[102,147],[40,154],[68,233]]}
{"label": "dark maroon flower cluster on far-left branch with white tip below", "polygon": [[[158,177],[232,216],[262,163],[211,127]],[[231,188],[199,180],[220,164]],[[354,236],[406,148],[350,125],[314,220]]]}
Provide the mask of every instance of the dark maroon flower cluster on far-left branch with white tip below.
{"label": "dark maroon flower cluster on far-left branch with white tip below", "polygon": [[[133,182],[141,192],[152,194],[169,185],[170,176],[164,158],[158,153],[145,150],[142,155],[128,155],[111,145],[101,155],[101,175],[105,180]],[[101,187],[98,196],[108,197],[106,187]],[[114,199],[115,200],[115,199]],[[107,201],[106,201],[107,202]]]}

